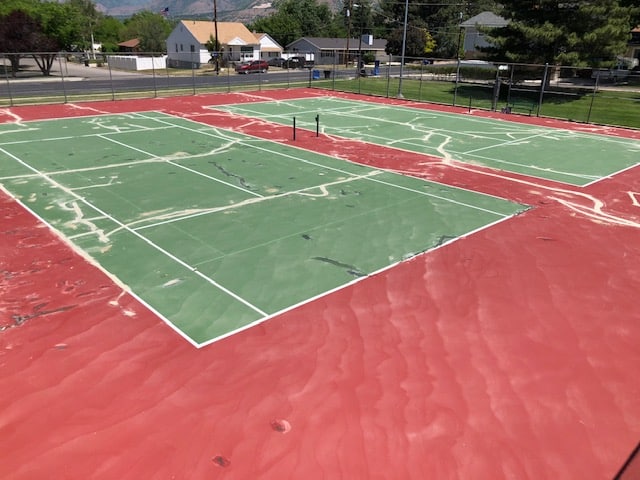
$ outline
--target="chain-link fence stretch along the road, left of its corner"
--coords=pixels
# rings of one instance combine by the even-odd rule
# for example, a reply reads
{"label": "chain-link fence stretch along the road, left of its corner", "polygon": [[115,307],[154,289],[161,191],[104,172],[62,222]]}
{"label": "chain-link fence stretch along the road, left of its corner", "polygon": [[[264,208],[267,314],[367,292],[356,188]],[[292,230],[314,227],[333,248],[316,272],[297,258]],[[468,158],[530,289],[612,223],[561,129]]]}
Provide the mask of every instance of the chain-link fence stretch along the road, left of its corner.
{"label": "chain-link fence stretch along the road, left of its corner", "polygon": [[275,66],[238,73],[244,62],[202,62],[196,53],[173,68],[162,54],[22,53],[17,66],[11,57],[0,54],[0,107],[292,88],[308,86],[312,75]]}

